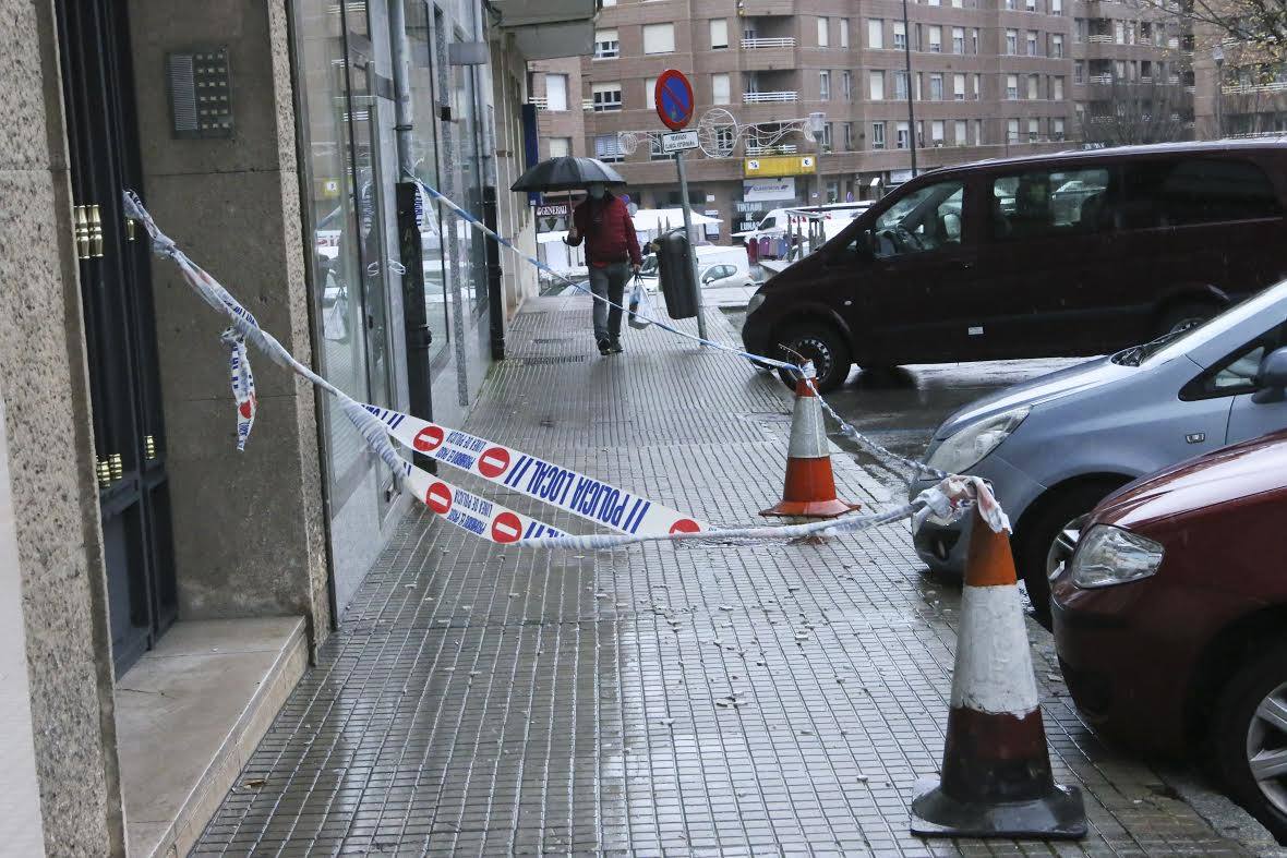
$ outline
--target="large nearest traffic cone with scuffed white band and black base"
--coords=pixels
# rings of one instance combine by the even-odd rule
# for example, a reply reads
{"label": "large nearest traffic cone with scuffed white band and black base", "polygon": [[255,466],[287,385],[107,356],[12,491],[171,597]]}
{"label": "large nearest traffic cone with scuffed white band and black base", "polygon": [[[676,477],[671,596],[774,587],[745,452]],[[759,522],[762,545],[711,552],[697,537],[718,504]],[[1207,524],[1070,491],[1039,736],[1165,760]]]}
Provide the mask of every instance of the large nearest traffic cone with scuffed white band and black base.
{"label": "large nearest traffic cone with scuffed white band and black base", "polygon": [[1050,773],[1010,540],[973,517],[943,773],[916,782],[911,832],[1084,837],[1081,791]]}

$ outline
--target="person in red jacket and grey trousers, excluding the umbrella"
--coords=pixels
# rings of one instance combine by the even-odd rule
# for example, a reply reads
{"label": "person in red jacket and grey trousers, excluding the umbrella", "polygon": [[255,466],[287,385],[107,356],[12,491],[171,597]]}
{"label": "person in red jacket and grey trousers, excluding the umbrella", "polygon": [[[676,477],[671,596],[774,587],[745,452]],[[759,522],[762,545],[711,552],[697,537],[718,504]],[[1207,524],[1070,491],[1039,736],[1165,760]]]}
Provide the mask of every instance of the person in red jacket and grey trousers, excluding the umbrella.
{"label": "person in red jacket and grey trousers, excluding the umbrella", "polygon": [[622,301],[631,273],[638,274],[644,264],[638,237],[631,212],[602,183],[589,185],[586,202],[577,206],[568,226],[571,247],[586,242],[586,264],[589,266],[589,289],[615,306],[595,301],[595,342],[598,354],[622,352]]}

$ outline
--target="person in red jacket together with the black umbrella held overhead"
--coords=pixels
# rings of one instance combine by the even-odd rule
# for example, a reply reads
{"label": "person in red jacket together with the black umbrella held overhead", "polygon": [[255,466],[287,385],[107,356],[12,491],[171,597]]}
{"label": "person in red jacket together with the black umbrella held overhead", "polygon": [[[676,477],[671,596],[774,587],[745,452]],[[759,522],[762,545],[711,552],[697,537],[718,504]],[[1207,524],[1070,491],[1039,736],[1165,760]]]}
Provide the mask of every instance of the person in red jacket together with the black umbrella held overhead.
{"label": "person in red jacket together with the black umbrella held overhead", "polygon": [[591,291],[618,305],[609,311],[604,301],[595,301],[595,341],[601,355],[622,351],[620,304],[625,297],[625,282],[631,269],[638,273],[644,262],[629,210],[607,192],[609,185],[624,184],[620,174],[598,158],[564,156],[542,161],[510,185],[510,190],[519,193],[589,190],[586,202],[571,212],[564,241],[573,247],[586,242]]}

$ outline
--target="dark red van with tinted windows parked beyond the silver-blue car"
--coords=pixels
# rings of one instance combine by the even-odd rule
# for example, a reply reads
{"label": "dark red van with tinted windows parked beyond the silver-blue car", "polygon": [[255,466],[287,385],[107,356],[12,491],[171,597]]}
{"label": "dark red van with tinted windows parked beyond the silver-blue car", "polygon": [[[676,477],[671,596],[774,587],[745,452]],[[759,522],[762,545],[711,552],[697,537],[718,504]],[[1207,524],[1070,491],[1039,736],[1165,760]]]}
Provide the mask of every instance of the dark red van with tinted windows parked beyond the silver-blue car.
{"label": "dark red van with tinted windows parked beyond the silver-blue car", "polygon": [[1287,143],[1121,147],[923,174],[748,306],[746,350],[853,363],[1098,355],[1287,277]]}

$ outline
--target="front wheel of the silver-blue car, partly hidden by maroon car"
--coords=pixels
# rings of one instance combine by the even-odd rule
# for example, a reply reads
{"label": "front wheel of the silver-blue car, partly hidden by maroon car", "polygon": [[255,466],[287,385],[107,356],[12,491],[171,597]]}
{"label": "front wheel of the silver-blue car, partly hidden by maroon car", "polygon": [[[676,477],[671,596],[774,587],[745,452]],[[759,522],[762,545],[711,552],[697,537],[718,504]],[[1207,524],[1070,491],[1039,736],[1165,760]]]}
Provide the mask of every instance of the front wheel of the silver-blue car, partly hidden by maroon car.
{"label": "front wheel of the silver-blue car, partly hidden by maroon car", "polygon": [[1024,520],[1014,534],[1014,565],[1028,589],[1037,623],[1050,628],[1050,576],[1072,557],[1081,520],[1107,498],[1120,481],[1081,482],[1057,494]]}

